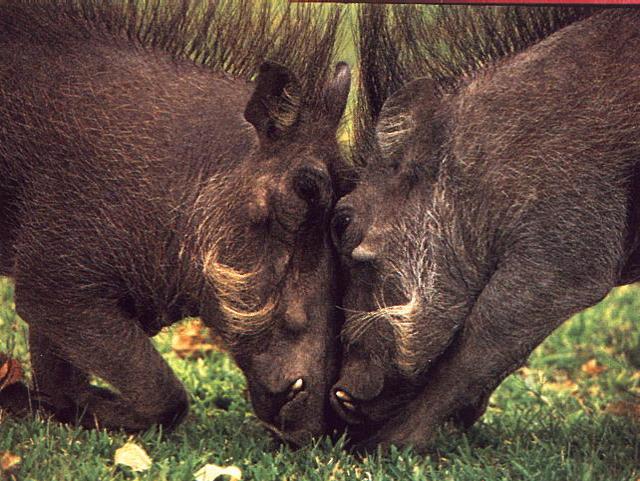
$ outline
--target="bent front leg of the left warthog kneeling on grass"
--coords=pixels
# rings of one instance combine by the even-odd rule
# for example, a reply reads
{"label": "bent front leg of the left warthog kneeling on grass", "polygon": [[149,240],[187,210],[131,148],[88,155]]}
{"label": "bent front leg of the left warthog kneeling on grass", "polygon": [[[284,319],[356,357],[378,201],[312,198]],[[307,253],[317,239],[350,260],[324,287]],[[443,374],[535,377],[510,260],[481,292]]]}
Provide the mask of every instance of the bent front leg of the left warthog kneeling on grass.
{"label": "bent front leg of the left warthog kneeling on grass", "polygon": [[[34,397],[60,421],[140,431],[172,427],[186,414],[182,384],[142,329],[117,310],[43,321],[40,309],[18,308],[30,324]],[[91,386],[88,373],[118,393]]]}

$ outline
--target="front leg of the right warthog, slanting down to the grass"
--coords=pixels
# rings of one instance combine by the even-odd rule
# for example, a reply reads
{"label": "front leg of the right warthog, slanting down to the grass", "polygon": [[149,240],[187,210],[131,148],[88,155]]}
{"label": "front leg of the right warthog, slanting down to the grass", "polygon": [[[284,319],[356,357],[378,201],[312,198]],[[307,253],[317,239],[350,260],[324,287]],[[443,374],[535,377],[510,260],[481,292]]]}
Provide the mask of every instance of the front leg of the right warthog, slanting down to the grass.
{"label": "front leg of the right warthog, slanting down to the grass", "polygon": [[512,262],[493,275],[458,339],[429,371],[423,391],[361,447],[423,449],[448,419],[457,416],[472,423],[484,410],[483,399],[561,321],[595,304],[613,287],[568,272],[533,272],[523,262]]}

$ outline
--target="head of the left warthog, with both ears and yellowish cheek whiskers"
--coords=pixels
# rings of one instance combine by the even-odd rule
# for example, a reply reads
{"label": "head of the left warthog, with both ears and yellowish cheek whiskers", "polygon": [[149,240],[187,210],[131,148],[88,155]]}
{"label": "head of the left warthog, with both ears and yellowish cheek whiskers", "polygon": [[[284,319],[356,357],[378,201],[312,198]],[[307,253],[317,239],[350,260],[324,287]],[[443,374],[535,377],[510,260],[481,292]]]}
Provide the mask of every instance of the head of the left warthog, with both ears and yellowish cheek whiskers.
{"label": "head of the left warthog, with both ears and yellowish cheek whiskers", "polygon": [[244,371],[257,416],[298,444],[326,431],[337,369],[327,232],[349,84],[340,63],[312,108],[292,72],[264,63],[244,112],[253,147],[228,179],[203,189],[196,209],[204,232],[197,252],[214,301],[203,318]]}

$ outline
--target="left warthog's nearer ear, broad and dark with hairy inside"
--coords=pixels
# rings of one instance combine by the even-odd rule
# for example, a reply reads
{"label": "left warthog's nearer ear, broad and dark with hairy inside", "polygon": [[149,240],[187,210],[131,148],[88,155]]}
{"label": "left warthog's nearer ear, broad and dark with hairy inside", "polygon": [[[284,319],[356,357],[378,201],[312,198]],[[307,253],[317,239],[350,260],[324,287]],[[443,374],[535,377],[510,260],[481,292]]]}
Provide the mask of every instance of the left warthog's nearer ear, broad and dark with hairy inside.
{"label": "left warthog's nearer ear, broad and dark with hairy inside", "polygon": [[260,139],[277,140],[294,128],[300,117],[300,82],[288,68],[275,62],[260,65],[256,88],[244,110]]}

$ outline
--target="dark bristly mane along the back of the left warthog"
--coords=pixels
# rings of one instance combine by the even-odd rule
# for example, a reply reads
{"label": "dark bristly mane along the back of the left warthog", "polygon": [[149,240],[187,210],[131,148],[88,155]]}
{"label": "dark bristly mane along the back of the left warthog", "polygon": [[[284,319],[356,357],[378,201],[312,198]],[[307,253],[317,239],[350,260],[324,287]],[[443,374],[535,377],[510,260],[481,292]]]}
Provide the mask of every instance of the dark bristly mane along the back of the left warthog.
{"label": "dark bristly mane along the back of the left warthog", "polygon": [[272,60],[296,74],[312,105],[333,72],[340,21],[337,7],[267,0],[0,0],[0,6],[11,15],[9,28],[50,42],[128,38],[246,80]]}

